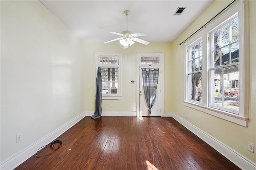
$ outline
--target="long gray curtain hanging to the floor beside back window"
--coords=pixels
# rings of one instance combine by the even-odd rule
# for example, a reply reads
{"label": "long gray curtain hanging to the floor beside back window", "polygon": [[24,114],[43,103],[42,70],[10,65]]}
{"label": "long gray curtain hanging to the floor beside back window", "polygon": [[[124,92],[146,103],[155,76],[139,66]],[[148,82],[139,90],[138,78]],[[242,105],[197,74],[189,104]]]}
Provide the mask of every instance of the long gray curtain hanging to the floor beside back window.
{"label": "long gray curtain hanging to the floor beside back window", "polygon": [[91,116],[92,119],[98,119],[101,116],[101,103],[102,103],[102,80],[100,75],[101,68],[98,67],[96,77],[96,96],[95,96],[95,112]]}

